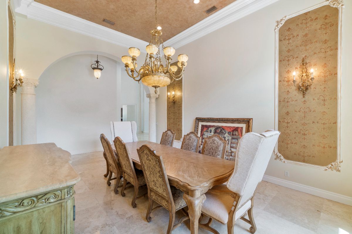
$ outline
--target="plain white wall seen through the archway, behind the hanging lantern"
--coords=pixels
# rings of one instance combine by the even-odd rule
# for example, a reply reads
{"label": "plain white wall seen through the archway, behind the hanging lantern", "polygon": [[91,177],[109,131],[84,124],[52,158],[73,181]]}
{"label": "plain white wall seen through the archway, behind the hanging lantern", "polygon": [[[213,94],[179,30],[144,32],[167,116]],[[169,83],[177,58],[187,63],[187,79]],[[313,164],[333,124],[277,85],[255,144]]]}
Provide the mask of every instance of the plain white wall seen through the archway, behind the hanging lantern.
{"label": "plain white wall seen through the archway, behind the hanging lantern", "polygon": [[55,142],[71,154],[100,151],[110,121],[119,118],[120,73],[117,61],[99,56],[99,79],[90,64],[96,55],[82,54],[51,65],[40,76],[37,94],[37,142]]}

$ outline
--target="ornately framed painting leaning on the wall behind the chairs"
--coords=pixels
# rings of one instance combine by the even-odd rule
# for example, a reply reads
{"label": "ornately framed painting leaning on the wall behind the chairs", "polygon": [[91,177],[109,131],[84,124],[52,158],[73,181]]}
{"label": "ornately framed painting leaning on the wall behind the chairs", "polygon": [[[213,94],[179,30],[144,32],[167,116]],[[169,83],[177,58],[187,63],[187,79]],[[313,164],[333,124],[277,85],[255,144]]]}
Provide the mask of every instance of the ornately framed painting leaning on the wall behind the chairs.
{"label": "ornately framed painting leaning on the wall behind the chairs", "polygon": [[201,138],[199,153],[206,138],[213,134],[226,140],[225,159],[235,160],[239,139],[252,131],[252,119],[236,118],[196,118],[194,132]]}

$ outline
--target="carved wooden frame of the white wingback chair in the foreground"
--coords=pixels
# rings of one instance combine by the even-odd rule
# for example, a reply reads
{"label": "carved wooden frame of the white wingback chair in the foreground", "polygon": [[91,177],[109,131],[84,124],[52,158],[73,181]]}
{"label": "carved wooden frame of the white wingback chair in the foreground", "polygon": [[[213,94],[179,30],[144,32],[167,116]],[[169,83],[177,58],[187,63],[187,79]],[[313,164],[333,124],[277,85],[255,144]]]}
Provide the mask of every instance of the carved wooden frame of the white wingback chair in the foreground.
{"label": "carved wooden frame of the white wingback chair in the foreground", "polygon": [[[259,185],[259,183],[258,183]],[[227,221],[227,233],[228,234],[233,234],[233,229],[235,226],[235,222],[238,219],[241,219],[243,221],[245,221],[246,223],[249,223],[251,225],[251,227],[249,228],[251,233],[255,233],[257,230],[257,226],[256,223],[254,222],[254,216],[253,216],[253,206],[254,206],[254,195],[256,195],[257,189],[258,189],[258,185],[256,190],[254,191],[253,195],[245,202],[243,202],[243,204],[241,206],[239,206],[239,203],[241,201],[241,196],[238,195],[237,193],[232,192],[231,190],[215,190],[215,189],[209,189],[208,192],[209,193],[213,193],[213,194],[220,194],[222,196],[231,196],[231,198],[234,198],[234,202],[230,211],[230,214],[228,215],[228,221]],[[235,219],[235,214],[236,212],[243,206],[245,205],[249,200],[251,200],[251,207],[249,207],[247,210],[244,211],[244,213],[238,218]],[[246,219],[244,216],[245,214],[248,214],[248,219]],[[204,213],[202,213],[202,215],[206,215]],[[206,215],[208,216],[208,215]],[[223,225],[226,225],[226,223],[223,223],[213,217],[209,217],[209,221],[207,223],[200,223],[199,222],[199,227],[208,230],[209,232],[215,233],[215,234],[220,234],[217,230],[215,230],[214,228],[210,227],[210,225],[212,224],[213,220],[218,221],[219,223],[222,223]]]}

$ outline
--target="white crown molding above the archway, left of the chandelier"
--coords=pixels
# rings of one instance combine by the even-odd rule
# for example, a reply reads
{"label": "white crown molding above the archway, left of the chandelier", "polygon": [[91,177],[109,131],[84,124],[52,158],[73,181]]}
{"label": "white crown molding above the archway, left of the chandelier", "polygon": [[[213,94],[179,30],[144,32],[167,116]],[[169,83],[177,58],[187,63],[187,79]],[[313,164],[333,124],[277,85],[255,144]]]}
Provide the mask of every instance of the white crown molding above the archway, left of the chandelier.
{"label": "white crown molding above the archway, left of the chandelier", "polygon": [[73,32],[92,36],[123,47],[138,47],[146,53],[148,42],[134,38],[127,34],[95,24],[77,16],[45,6],[34,0],[14,0],[15,12],[27,15],[27,18],[39,20]]}

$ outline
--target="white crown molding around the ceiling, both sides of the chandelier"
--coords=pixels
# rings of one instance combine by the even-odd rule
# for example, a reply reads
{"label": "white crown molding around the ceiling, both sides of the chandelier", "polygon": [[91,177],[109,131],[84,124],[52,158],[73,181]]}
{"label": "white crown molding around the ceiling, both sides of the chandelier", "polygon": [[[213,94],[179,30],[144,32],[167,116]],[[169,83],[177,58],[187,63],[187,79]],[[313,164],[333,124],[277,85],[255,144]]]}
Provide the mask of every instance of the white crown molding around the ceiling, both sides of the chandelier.
{"label": "white crown molding around the ceiling, both sides of the chandelier", "polygon": [[[202,36],[228,25],[246,15],[266,7],[278,0],[237,0],[220,9],[204,20],[189,27],[183,32],[165,41],[166,45],[175,48],[181,47]],[[45,6],[34,0],[13,0],[15,12],[27,15],[28,18],[39,20],[47,24],[65,28],[73,32],[92,36],[103,41],[111,42],[124,47],[138,47],[146,53],[148,42],[134,38],[127,34],[95,24],[77,16]]]}

